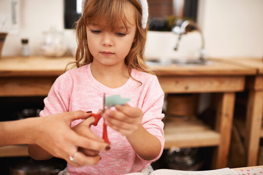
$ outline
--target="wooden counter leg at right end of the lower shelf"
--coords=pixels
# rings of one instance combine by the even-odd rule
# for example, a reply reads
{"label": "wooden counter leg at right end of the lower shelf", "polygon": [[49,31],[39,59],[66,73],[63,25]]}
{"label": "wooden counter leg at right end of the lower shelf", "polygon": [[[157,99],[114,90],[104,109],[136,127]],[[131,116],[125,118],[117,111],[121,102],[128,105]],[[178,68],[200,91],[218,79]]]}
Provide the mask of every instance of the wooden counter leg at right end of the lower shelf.
{"label": "wooden counter leg at right end of the lower shelf", "polygon": [[221,93],[218,97],[215,129],[221,134],[221,143],[218,147],[215,148],[215,151],[213,153],[213,169],[227,167],[235,93]]}

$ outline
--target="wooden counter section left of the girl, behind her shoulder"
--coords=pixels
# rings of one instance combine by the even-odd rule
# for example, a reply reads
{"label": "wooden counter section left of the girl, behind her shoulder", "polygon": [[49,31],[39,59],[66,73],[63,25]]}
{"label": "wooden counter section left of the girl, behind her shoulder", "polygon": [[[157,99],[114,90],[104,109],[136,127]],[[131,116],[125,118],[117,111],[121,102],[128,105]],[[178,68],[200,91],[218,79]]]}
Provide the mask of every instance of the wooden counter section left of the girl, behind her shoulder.
{"label": "wooden counter section left of the girl, behind her shoulder", "polygon": [[0,58],[0,96],[46,96],[73,57]]}

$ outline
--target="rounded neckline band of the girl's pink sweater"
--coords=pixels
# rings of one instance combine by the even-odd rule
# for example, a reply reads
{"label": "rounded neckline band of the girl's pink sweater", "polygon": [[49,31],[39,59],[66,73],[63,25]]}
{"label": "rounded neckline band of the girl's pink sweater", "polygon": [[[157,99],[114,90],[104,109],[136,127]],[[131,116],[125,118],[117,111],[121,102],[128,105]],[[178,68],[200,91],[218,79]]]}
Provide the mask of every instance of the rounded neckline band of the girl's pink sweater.
{"label": "rounded neckline band of the girl's pink sweater", "polygon": [[93,76],[93,74],[92,74],[92,72],[91,72],[91,64],[92,63],[90,63],[90,64],[88,64],[87,65],[87,75],[88,75],[88,78],[89,78],[89,80],[90,80],[90,82],[92,82],[92,84],[90,85],[90,86],[92,86],[94,89],[97,89],[97,90],[99,90],[100,92],[102,92],[102,93],[108,93],[108,94],[119,94],[119,93],[121,93],[123,90],[127,90],[127,88],[130,88],[136,81],[135,80],[133,80],[132,78],[131,78],[131,76],[133,77],[133,78],[135,78],[135,75],[136,75],[136,71],[134,70],[134,69],[131,69],[131,76],[129,77],[129,79],[126,81],[126,83],[125,84],[123,84],[122,86],[120,86],[120,87],[118,87],[118,88],[109,88],[109,87],[107,87],[107,86],[105,86],[105,85],[103,85],[102,83],[100,83],[100,82],[98,82],[95,78],[94,78],[94,76]]}

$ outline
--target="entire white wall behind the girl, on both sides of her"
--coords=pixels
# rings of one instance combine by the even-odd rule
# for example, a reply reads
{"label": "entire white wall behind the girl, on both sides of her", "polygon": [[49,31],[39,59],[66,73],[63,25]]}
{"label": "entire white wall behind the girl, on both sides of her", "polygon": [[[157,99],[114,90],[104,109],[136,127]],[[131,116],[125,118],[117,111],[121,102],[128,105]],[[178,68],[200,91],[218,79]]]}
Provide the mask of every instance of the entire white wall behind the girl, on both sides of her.
{"label": "entire white wall behind the girl, on both sides of her", "polygon": [[[0,0],[0,6],[3,5]],[[263,0],[199,0],[198,24],[205,36],[210,56],[263,56]],[[19,55],[20,39],[29,38],[31,54],[39,54],[42,32],[54,26],[63,30],[63,0],[20,0],[20,29],[8,35],[2,55]],[[1,9],[1,8],[0,8]],[[0,12],[1,13],[1,12]],[[75,45],[75,34],[66,30],[67,42]],[[146,56],[195,57],[200,36],[189,33],[182,37],[177,52],[177,36],[169,32],[149,32]]]}

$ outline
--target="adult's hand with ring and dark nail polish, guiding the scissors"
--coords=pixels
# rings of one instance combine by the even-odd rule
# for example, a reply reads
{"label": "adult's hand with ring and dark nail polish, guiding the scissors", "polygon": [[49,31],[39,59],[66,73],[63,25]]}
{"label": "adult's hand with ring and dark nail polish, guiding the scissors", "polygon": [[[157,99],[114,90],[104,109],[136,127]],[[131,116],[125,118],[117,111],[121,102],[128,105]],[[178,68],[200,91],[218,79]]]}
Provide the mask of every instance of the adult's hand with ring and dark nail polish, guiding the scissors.
{"label": "adult's hand with ring and dark nail polish, guiding the scissors", "polygon": [[[78,147],[98,152],[106,150],[109,145],[103,139],[96,137],[89,127],[79,128],[78,132],[83,133],[82,135],[77,134],[70,127],[72,121],[86,119],[90,115],[91,113],[84,111],[75,111],[40,117],[38,124],[35,124],[38,128],[32,133],[35,136],[34,142],[53,156],[63,158],[75,167],[96,164],[101,158],[99,155],[85,155],[78,151]],[[91,120],[85,123],[88,122]],[[75,162],[70,160],[70,156],[74,157]]]}

